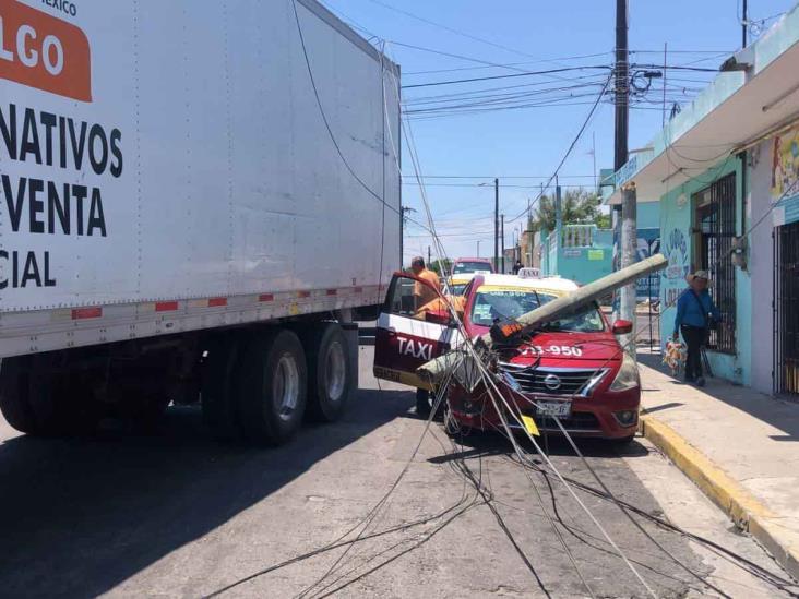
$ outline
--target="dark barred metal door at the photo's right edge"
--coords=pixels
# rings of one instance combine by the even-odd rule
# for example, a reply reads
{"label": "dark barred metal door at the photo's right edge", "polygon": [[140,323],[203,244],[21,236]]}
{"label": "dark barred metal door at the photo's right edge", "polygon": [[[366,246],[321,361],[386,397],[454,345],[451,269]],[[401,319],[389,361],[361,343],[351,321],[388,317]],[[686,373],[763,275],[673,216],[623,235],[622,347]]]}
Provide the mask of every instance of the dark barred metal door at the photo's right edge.
{"label": "dark barred metal door at the photo's right edge", "polygon": [[774,392],[799,397],[799,223],[774,231]]}

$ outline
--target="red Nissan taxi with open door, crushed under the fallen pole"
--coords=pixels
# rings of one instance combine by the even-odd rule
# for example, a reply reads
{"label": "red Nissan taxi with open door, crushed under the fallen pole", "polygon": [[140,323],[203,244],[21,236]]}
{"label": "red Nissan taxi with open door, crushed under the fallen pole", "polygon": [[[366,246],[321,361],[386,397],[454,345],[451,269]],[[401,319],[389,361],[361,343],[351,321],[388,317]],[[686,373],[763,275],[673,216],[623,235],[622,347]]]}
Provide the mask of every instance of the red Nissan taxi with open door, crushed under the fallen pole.
{"label": "red Nissan taxi with open door, crushed under the fallen pole", "polygon": [[[425,388],[416,369],[457,346],[463,339],[446,310],[414,314],[402,307],[406,275],[396,274],[378,320],[374,374]],[[460,306],[470,338],[489,332],[496,319],[514,319],[577,289],[563,278],[476,275]],[[504,352],[500,368],[517,384],[509,392],[522,414],[539,430],[560,431],[554,418],[573,435],[632,440],[639,419],[641,383],[635,360],[616,335],[629,333],[629,321],[608,323],[597,304],[547,323],[524,343]],[[452,418],[466,429],[501,428],[499,415],[485,396],[457,384],[448,390]],[[535,404],[534,404],[535,403]],[[509,419],[512,426],[516,422]]]}

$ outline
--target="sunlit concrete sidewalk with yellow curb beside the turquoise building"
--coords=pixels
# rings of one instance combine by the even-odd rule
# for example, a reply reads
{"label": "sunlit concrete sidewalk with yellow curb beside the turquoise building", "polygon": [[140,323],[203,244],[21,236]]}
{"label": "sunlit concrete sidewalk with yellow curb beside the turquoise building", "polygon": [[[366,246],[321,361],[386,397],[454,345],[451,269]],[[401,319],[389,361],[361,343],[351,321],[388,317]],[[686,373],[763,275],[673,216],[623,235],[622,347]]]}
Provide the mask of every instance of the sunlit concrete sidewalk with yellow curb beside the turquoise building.
{"label": "sunlit concrete sidewalk with yellow curb beside the turquoise building", "polygon": [[641,431],[799,579],[799,404],[708,379],[700,390],[639,352]]}

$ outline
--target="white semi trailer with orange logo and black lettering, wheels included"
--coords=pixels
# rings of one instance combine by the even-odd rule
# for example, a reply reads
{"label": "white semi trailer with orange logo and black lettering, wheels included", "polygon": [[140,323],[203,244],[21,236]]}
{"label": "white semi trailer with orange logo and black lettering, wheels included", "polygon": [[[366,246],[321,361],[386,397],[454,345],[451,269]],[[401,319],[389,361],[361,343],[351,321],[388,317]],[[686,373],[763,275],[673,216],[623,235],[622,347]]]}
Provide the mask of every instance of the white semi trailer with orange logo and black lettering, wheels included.
{"label": "white semi trailer with orange logo and black lettering, wheels included", "polygon": [[401,261],[398,81],[315,0],[0,0],[5,419],[335,419]]}

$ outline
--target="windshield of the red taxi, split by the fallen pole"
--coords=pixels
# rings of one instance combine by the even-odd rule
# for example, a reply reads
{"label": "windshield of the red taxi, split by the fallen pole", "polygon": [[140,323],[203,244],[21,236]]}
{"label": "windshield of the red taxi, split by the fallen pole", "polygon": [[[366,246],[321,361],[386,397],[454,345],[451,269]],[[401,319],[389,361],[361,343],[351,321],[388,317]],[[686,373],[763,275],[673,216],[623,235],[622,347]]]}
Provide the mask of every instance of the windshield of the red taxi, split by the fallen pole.
{"label": "windshield of the red taxi, split by the fallen pole", "polygon": [[[547,291],[528,288],[482,286],[477,290],[472,307],[472,322],[482,326],[491,326],[494,319],[517,319],[542,306],[558,296]],[[605,331],[605,322],[596,306],[589,306],[574,314],[547,323],[547,331],[572,331],[579,333],[596,333]]]}

